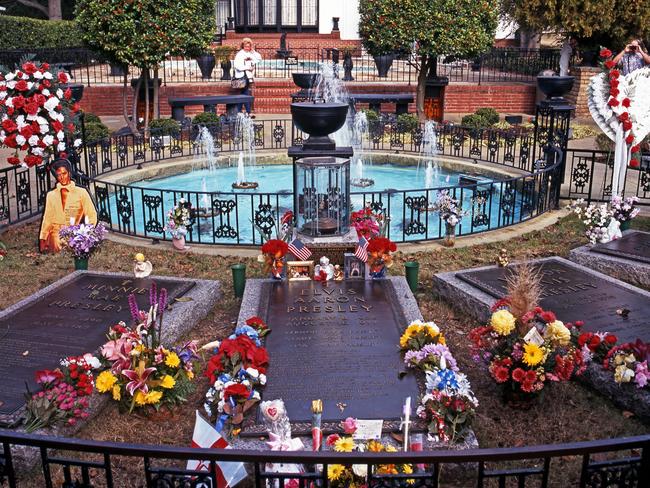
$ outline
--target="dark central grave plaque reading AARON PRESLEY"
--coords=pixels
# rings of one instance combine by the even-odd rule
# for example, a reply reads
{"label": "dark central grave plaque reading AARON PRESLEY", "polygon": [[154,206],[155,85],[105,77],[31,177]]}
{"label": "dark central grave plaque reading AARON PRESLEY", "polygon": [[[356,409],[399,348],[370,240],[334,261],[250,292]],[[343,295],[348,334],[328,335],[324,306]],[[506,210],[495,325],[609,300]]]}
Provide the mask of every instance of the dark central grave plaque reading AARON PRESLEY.
{"label": "dark central grave plaque reading AARON PRESLEY", "polygon": [[[346,417],[398,419],[417,398],[399,337],[406,325],[383,281],[274,283],[267,314],[270,366],[263,397],[282,398],[292,422],[309,422],[323,401],[323,422]],[[341,408],[344,407],[344,408]],[[259,418],[258,418],[259,420]]]}

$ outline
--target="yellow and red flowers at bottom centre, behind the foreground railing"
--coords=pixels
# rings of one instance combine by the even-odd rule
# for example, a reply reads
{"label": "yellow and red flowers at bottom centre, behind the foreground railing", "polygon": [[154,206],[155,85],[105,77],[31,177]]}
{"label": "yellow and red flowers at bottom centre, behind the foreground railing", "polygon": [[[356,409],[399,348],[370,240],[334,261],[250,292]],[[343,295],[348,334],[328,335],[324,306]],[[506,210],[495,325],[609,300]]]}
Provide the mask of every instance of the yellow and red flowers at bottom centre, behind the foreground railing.
{"label": "yellow and red flowers at bottom centre, behind the foreground railing", "polygon": [[[380,441],[357,442],[349,436],[332,434],[325,443],[336,452],[370,451],[370,452],[397,452],[397,448]],[[375,474],[412,474],[413,466],[410,464],[380,464],[376,467]],[[327,478],[332,488],[365,487],[367,486],[368,466],[366,464],[330,464],[327,467]],[[411,483],[413,480],[407,480]]]}

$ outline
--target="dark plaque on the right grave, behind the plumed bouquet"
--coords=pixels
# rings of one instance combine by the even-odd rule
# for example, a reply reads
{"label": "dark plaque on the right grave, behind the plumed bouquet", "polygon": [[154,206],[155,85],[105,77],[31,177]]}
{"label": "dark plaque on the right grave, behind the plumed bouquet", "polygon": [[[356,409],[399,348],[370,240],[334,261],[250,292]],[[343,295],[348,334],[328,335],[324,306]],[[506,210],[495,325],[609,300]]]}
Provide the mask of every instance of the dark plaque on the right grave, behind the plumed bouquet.
{"label": "dark plaque on the right grave, behind the plumed bouquet", "polygon": [[[586,331],[607,331],[620,342],[640,338],[650,341],[650,300],[647,296],[560,260],[536,264],[543,275],[540,306],[555,312],[563,322],[584,321]],[[456,273],[463,281],[495,298],[506,294],[510,268],[490,268]],[[622,315],[617,310],[628,310]]]}

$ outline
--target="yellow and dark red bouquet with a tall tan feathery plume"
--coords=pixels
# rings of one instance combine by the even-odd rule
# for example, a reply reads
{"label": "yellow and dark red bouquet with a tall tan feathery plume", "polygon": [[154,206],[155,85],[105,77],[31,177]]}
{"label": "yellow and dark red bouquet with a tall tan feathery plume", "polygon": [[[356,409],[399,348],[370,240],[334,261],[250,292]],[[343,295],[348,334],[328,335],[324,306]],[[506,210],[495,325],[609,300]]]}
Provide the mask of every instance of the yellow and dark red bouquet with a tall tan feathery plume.
{"label": "yellow and dark red bouquet with a tall tan feathery plume", "polygon": [[564,324],[537,306],[540,277],[519,265],[508,277],[508,297],[495,303],[490,323],[470,332],[472,351],[502,387],[505,402],[527,409],[550,382],[567,381],[586,365],[572,336],[581,323]]}

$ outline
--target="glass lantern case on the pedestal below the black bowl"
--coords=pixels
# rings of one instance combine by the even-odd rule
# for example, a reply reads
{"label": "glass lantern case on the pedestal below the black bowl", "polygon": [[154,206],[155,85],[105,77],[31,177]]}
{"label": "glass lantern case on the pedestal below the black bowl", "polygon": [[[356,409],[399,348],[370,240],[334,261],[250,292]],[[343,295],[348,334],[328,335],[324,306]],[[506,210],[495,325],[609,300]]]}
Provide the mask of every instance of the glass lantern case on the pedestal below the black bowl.
{"label": "glass lantern case on the pedestal below the black bowl", "polygon": [[308,157],[295,162],[294,208],[299,233],[343,235],[350,228],[350,160]]}

